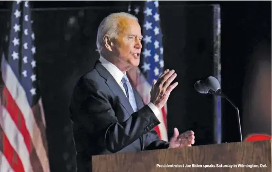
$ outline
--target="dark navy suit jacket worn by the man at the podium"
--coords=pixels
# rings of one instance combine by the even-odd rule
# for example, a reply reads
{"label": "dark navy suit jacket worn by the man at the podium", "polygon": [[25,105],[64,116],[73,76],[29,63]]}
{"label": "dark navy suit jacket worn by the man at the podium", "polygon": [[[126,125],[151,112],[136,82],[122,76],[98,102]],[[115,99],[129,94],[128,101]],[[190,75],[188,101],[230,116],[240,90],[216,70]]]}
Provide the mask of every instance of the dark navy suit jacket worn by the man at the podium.
{"label": "dark navy suit jacket worn by the man at the podium", "polygon": [[91,156],[168,148],[153,127],[160,121],[134,90],[138,111],[100,61],[77,81],[70,102],[77,171],[91,171]]}

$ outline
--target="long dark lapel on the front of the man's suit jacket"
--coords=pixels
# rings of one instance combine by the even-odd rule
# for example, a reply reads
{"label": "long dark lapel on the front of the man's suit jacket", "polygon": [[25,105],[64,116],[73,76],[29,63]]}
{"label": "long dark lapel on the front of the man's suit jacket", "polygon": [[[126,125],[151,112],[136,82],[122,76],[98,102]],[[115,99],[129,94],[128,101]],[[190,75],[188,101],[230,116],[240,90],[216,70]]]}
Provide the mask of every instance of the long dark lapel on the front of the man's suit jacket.
{"label": "long dark lapel on the front of the man's suit jacket", "polygon": [[109,89],[118,98],[120,104],[126,109],[127,113],[129,115],[134,113],[129,103],[129,100],[121,89],[120,85],[116,82],[113,76],[102,66],[100,61],[97,61],[95,63],[95,69],[100,73],[102,77],[106,79],[106,84],[108,85]]}

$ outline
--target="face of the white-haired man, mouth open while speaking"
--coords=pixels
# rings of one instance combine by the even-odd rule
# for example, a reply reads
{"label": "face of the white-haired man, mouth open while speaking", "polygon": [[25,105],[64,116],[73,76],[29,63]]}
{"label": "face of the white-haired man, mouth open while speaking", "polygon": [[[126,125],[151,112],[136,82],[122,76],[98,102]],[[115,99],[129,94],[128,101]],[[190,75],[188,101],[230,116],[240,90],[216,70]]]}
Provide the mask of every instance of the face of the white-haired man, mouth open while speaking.
{"label": "face of the white-haired man, mouth open while speaking", "polygon": [[141,27],[137,20],[121,17],[118,22],[118,35],[112,40],[112,53],[118,58],[122,68],[138,67],[142,49]]}

